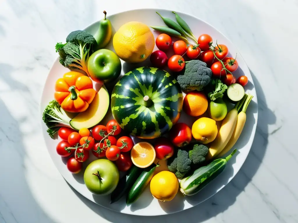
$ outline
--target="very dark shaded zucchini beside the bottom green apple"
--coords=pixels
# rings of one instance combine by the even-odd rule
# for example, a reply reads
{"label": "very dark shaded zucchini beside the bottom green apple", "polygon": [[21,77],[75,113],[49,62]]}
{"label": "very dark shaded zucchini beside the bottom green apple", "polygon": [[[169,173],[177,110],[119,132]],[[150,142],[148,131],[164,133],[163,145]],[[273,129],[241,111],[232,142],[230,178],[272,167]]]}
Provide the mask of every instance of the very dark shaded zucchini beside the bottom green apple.
{"label": "very dark shaded zucchini beside the bottom green apple", "polygon": [[142,169],[133,165],[131,169],[119,180],[116,189],[111,194],[110,204],[118,201],[134,184],[136,179],[142,173]]}

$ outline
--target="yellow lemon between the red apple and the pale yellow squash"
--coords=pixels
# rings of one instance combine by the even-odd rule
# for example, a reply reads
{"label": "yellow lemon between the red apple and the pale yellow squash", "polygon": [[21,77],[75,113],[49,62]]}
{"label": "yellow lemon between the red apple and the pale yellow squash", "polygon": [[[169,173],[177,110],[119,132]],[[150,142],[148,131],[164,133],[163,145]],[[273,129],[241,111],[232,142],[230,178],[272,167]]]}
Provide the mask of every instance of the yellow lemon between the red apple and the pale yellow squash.
{"label": "yellow lemon between the red apple and the pale yellow squash", "polygon": [[215,139],[217,132],[218,130],[215,120],[206,117],[196,120],[191,129],[193,137],[203,144],[212,142]]}

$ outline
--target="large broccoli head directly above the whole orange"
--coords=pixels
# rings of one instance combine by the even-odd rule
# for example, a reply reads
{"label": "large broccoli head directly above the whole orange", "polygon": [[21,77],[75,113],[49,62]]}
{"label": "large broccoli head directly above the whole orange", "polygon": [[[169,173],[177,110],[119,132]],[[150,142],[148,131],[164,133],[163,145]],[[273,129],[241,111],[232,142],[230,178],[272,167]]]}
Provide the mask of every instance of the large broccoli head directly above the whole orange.
{"label": "large broccoli head directly above the whole orange", "polygon": [[200,60],[190,60],[185,64],[185,70],[177,76],[177,81],[183,91],[201,91],[210,82],[212,71]]}

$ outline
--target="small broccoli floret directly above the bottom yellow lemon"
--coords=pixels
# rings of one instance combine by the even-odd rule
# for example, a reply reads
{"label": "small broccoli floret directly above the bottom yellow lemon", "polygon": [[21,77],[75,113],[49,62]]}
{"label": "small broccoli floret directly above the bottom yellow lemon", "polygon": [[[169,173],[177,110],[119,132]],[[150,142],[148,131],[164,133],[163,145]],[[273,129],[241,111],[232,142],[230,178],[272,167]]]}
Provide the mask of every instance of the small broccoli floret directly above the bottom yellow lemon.
{"label": "small broccoli floret directly above the bottom yellow lemon", "polygon": [[175,173],[177,178],[183,178],[184,175],[190,171],[191,160],[188,157],[186,150],[179,149],[167,161],[169,171]]}

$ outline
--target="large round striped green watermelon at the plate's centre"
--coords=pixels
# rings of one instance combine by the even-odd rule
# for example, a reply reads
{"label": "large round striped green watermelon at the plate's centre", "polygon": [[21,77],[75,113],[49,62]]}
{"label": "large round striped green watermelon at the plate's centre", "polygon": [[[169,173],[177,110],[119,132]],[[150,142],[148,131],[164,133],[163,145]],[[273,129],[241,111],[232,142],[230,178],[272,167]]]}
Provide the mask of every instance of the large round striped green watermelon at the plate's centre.
{"label": "large round striped green watermelon at the plate's centre", "polygon": [[154,139],[178,121],[183,95],[176,79],[154,67],[139,67],[126,73],[111,95],[114,119],[128,134]]}

